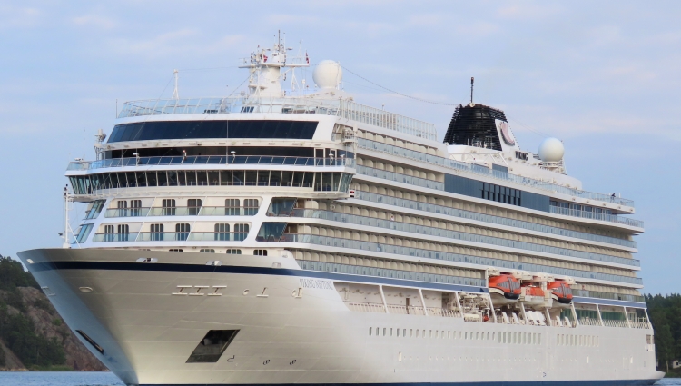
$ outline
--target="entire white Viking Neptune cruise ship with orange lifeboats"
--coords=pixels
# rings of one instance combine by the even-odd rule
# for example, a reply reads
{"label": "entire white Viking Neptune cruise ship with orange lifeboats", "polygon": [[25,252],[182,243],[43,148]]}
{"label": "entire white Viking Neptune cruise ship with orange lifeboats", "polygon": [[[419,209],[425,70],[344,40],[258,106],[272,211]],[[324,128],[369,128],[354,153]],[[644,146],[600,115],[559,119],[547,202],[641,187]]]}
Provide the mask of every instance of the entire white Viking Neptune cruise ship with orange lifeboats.
{"label": "entire white Viking Neptune cruise ship with orange lifeboats", "polygon": [[633,201],[583,190],[558,139],[521,150],[472,97],[439,139],[356,102],[337,62],[305,84],[308,55],[281,42],[240,63],[241,94],[125,103],[96,158],[67,167],[79,227],[19,253],[125,384],[664,375],[634,258],[644,224]]}

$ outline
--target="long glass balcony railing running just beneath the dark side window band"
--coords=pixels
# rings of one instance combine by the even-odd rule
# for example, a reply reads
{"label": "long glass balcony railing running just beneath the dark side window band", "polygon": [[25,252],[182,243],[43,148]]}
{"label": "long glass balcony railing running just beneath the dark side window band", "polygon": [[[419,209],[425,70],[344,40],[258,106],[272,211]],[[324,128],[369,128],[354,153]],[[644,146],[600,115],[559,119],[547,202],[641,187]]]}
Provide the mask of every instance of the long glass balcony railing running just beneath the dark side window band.
{"label": "long glass balcony railing running just beneath the dark side window band", "polygon": [[[594,242],[614,243],[617,245],[623,245],[630,248],[636,248],[637,246],[636,242],[632,242],[625,239],[617,239],[615,237],[601,236],[598,234],[570,231],[568,229],[542,225],[538,223],[529,223],[521,220],[508,219],[505,217],[498,217],[490,214],[469,212],[464,211],[462,209],[450,208],[448,206],[436,205],[434,203],[419,203],[418,201],[405,200],[403,198],[390,197],[388,195],[378,193],[356,191],[355,198],[370,201],[372,203],[385,203],[386,205],[395,205],[399,206],[400,208],[416,209],[418,211],[426,211],[430,213],[447,214],[449,216],[460,217],[469,220],[513,226],[518,228],[524,228],[530,231],[553,233],[558,234],[560,236],[575,237],[579,239],[591,240]],[[639,222],[638,220],[635,221]],[[643,227],[643,222],[639,223],[641,227]]]}

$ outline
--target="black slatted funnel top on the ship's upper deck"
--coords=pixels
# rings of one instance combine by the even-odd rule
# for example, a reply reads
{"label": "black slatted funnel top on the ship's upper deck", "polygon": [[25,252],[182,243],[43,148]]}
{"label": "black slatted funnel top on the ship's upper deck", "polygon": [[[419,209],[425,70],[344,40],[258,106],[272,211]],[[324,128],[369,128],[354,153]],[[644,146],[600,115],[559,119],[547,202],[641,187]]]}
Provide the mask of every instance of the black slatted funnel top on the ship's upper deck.
{"label": "black slatted funnel top on the ship's upper deck", "polygon": [[504,112],[494,107],[484,104],[472,106],[459,104],[449,122],[444,143],[501,150],[495,119],[508,122]]}

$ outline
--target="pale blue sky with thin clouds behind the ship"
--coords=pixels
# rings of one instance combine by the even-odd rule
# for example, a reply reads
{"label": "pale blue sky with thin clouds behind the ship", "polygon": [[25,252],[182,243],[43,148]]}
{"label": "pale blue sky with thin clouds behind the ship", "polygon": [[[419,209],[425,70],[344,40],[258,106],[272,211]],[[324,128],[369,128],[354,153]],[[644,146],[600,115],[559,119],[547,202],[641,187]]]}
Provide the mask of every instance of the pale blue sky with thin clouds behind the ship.
{"label": "pale blue sky with thin clouds behind the ship", "polygon": [[672,1],[5,0],[0,254],[61,245],[66,165],[94,158],[124,101],[171,97],[174,69],[181,97],[238,93],[238,59],[281,30],[312,64],[339,61],[356,101],[439,138],[474,76],[475,101],[503,109],[521,147],[558,137],[585,190],[636,202],[643,292],[681,292],[680,14]]}

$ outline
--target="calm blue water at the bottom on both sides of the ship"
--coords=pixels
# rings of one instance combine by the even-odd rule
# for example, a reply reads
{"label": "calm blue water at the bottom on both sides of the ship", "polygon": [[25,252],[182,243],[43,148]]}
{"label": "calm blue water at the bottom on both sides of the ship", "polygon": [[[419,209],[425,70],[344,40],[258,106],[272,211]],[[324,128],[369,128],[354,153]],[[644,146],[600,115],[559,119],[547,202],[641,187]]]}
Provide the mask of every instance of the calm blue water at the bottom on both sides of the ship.
{"label": "calm blue water at the bottom on both sides of the ship", "polygon": [[[666,378],[656,384],[681,386],[681,378]],[[0,371],[0,386],[125,386],[111,372]]]}

